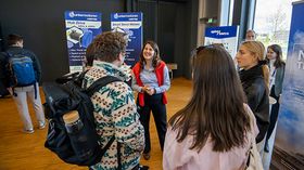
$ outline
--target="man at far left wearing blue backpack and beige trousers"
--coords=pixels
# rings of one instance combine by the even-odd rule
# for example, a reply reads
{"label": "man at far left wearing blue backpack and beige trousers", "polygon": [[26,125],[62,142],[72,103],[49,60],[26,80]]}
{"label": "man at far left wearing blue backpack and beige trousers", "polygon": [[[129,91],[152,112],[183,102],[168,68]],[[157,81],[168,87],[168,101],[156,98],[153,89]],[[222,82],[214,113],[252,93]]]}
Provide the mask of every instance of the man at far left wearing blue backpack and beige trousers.
{"label": "man at far left wearing blue backpack and beige trousers", "polygon": [[23,37],[20,35],[8,36],[9,48],[4,52],[7,58],[7,79],[9,80],[9,91],[15,101],[24,125],[23,132],[34,133],[27,97],[33,103],[38,120],[38,129],[46,127],[38,86],[41,68],[37,56],[31,51],[23,49]]}

